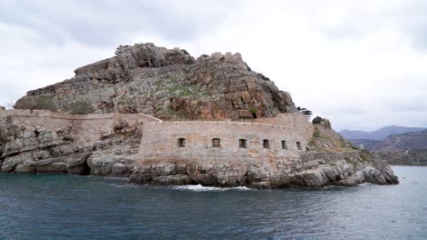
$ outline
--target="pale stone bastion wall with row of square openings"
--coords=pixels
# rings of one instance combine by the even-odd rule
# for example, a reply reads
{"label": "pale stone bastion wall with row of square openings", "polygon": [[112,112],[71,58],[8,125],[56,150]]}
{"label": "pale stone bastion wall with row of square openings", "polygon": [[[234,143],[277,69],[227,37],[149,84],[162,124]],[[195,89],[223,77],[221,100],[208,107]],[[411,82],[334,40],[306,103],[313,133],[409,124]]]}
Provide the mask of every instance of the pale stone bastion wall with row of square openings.
{"label": "pale stone bastion wall with row of square openings", "polygon": [[[307,118],[300,114],[256,118],[253,122],[147,123],[143,125],[138,158],[141,164],[180,159],[198,162],[291,160],[306,151],[313,131]],[[214,138],[219,139],[219,147],[213,145]],[[245,141],[245,146],[239,143],[239,139]],[[265,143],[265,140],[268,142]],[[282,141],[286,141],[286,144],[283,145]]]}

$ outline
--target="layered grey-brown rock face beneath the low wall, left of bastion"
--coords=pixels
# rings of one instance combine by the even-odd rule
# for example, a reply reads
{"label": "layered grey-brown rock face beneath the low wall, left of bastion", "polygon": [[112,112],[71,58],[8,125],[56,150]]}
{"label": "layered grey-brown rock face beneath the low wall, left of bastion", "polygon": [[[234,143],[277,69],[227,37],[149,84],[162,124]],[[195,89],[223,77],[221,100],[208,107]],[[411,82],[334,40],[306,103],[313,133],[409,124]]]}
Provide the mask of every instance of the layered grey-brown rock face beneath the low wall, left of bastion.
{"label": "layered grey-brown rock face beneath the low wall, left of bastion", "polygon": [[37,117],[0,119],[1,173],[130,176],[141,139],[136,125],[119,119],[105,135],[82,141],[91,129],[79,123],[46,129],[32,120]]}

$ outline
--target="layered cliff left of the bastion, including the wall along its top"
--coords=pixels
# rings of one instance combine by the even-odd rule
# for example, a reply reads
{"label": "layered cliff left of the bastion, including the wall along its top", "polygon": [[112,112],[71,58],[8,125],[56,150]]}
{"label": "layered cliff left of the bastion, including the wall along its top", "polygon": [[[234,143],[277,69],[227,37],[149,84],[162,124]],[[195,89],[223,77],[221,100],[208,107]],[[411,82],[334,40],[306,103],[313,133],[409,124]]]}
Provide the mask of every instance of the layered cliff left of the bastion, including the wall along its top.
{"label": "layered cliff left of the bastion, including the wall along its top", "polygon": [[0,111],[0,173],[129,176],[141,118]]}

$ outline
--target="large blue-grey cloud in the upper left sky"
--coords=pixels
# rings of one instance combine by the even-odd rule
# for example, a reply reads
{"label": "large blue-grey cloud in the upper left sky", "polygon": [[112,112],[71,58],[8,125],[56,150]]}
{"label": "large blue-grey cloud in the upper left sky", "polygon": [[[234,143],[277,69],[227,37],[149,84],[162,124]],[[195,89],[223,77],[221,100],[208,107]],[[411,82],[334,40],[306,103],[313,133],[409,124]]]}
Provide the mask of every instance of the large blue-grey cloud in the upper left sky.
{"label": "large blue-grey cloud in the upper left sky", "polygon": [[35,30],[44,36],[46,43],[63,45],[71,38],[97,47],[126,44],[123,41],[138,32],[156,34],[166,39],[189,40],[220,23],[225,18],[226,9],[234,5],[219,2],[219,10],[222,11],[213,11],[209,5],[203,7],[202,1],[177,3],[1,1],[0,22]]}

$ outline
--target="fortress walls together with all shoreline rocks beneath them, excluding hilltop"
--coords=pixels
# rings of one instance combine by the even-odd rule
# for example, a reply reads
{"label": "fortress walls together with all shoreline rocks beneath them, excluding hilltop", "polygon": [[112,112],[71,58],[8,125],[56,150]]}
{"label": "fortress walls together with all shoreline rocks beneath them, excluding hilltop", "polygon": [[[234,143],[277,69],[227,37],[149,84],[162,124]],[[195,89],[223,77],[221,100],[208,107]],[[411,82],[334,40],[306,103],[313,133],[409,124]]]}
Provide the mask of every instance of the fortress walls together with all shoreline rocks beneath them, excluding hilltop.
{"label": "fortress walls together with all shoreline rocks beneath them, excluding hilltop", "polygon": [[[114,175],[140,184],[257,188],[399,183],[389,165],[363,160],[366,156],[359,151],[305,153],[314,126],[298,114],[161,122],[140,114],[62,115],[0,109],[0,122],[5,124],[0,129],[2,173]],[[125,127],[135,127],[118,128],[123,122]],[[72,140],[64,131],[71,132]],[[180,138],[185,139],[182,145]],[[220,141],[218,147],[213,146],[214,138]],[[240,139],[245,139],[244,147]]]}

